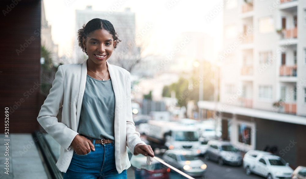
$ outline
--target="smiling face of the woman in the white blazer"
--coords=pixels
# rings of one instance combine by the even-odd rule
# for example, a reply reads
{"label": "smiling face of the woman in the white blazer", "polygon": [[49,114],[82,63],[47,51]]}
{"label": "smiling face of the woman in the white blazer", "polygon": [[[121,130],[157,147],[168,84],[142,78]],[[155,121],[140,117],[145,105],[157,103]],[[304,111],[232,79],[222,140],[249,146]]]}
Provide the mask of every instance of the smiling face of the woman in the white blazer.
{"label": "smiling face of the woman in the white blazer", "polygon": [[83,38],[83,46],[87,50],[88,60],[97,65],[105,63],[110,58],[115,44],[113,36],[104,29],[93,31],[86,40]]}

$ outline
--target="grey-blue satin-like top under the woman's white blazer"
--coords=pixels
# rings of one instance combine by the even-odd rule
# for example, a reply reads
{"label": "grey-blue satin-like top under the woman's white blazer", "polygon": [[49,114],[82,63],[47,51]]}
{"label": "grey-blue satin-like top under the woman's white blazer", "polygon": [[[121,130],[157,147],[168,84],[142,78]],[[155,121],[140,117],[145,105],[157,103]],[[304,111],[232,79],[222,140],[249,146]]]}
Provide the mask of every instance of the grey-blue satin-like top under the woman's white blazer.
{"label": "grey-blue satin-like top under the woman's white blazer", "polygon": [[114,140],[115,94],[111,79],[87,75],[78,133],[95,139]]}

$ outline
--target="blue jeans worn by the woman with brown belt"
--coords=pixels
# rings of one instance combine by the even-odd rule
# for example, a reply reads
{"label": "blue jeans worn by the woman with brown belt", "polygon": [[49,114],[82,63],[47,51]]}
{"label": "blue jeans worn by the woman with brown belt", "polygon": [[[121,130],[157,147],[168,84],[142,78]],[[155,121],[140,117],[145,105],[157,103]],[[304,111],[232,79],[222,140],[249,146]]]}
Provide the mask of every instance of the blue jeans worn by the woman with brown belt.
{"label": "blue jeans worn by the woman with brown belt", "polygon": [[69,168],[64,173],[64,179],[104,179],[118,178],[126,179],[126,170],[118,174],[115,165],[114,141],[109,144],[95,144],[95,151],[90,151],[85,155],[78,155],[73,152],[73,157]]}

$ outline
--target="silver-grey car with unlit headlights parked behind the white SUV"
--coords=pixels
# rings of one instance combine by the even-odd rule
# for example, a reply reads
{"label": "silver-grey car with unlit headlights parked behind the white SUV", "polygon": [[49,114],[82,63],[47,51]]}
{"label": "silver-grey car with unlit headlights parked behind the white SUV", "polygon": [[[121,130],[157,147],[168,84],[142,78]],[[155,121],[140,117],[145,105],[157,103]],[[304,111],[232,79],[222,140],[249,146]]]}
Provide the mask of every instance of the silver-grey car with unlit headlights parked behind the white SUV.
{"label": "silver-grey car with unlit headlights parked behind the white SUV", "polygon": [[240,166],[242,164],[241,152],[230,144],[230,141],[210,140],[207,143],[207,151],[204,156],[206,160],[214,160],[223,165]]}

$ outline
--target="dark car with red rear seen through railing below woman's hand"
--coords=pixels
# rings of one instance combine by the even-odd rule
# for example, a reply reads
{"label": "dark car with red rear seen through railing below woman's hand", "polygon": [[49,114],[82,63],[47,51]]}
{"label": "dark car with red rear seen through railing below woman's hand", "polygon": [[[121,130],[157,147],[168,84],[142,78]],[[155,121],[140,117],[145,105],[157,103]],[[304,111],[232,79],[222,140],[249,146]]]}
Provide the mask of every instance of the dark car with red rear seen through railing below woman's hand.
{"label": "dark car with red rear seen through railing below woman's hand", "polygon": [[156,160],[147,164],[147,157],[132,156],[130,163],[134,167],[135,179],[169,179],[170,168]]}

